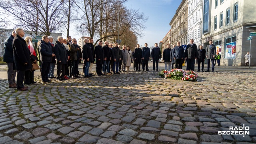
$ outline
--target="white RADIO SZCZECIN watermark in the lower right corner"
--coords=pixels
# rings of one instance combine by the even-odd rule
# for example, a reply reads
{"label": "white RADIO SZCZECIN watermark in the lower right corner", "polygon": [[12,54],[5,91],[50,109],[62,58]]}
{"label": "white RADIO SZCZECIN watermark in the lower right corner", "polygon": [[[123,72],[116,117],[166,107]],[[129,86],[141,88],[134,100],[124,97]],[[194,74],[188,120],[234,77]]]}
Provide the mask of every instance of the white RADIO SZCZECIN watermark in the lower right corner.
{"label": "white RADIO SZCZECIN watermark in the lower right corner", "polygon": [[218,131],[219,135],[249,135],[249,126],[230,126],[229,131]]}

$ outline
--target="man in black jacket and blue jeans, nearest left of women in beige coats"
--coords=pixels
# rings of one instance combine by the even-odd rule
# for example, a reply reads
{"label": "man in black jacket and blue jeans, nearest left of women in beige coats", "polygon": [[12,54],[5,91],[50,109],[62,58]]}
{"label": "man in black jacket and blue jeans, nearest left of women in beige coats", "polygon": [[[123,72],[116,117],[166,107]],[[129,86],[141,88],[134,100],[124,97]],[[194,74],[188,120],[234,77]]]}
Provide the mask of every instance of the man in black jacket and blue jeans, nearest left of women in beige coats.
{"label": "man in black jacket and blue jeans, nearest left of women in beige coats", "polygon": [[112,48],[112,58],[113,58],[113,73],[114,74],[120,74],[118,72],[119,70],[119,62],[122,59],[122,56],[120,54],[120,49],[118,47],[118,43],[115,42],[115,47]]}

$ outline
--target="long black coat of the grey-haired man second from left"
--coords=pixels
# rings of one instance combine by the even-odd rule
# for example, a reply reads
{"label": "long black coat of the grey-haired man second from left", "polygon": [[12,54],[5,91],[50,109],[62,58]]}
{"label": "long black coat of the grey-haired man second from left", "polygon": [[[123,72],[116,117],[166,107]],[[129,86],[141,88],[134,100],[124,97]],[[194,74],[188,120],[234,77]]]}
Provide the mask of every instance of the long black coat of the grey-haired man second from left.
{"label": "long black coat of the grey-haired man second from left", "polygon": [[26,41],[17,34],[12,41],[12,48],[15,66],[14,69],[30,70],[32,68],[32,63]]}

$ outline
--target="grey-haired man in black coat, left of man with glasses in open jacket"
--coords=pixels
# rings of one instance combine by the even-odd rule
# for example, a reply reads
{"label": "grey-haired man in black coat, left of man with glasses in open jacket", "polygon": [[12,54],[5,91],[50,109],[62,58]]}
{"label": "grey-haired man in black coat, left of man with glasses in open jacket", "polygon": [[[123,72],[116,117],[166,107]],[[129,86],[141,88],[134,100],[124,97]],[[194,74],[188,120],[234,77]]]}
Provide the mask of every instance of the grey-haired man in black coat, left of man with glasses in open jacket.
{"label": "grey-haired man in black coat, left of man with glasses in open jacket", "polygon": [[56,54],[56,59],[57,59],[57,78],[56,79],[58,81],[67,80],[66,78],[64,78],[64,76],[65,76],[65,67],[68,62],[68,54],[65,46],[62,43],[63,43],[62,36],[58,36],[58,41],[56,41],[54,45],[54,52]]}

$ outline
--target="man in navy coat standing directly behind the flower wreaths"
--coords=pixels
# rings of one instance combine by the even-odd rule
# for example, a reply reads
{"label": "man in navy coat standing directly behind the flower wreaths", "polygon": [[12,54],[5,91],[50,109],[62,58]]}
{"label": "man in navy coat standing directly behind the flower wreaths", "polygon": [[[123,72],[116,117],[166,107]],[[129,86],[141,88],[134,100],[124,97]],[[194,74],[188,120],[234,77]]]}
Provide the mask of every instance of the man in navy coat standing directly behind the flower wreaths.
{"label": "man in navy coat standing directly behind the flower wreaths", "polygon": [[184,48],[180,46],[180,42],[177,42],[177,46],[174,47],[172,57],[175,60],[175,68],[182,69],[182,63],[184,62]]}

